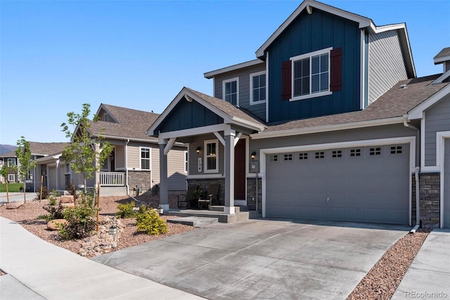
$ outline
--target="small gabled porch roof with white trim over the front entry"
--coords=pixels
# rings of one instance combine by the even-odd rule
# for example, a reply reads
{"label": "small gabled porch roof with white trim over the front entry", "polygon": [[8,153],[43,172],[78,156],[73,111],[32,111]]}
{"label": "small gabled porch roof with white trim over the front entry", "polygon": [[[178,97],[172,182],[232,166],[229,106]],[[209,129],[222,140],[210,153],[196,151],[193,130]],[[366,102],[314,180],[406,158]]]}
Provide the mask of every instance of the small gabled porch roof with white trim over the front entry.
{"label": "small gabled porch roof with white trim over the front entry", "polygon": [[176,104],[181,101],[181,99],[188,99],[188,101],[197,101],[199,104],[205,106],[213,113],[219,115],[219,117],[224,119],[224,123],[240,125],[243,127],[251,128],[252,130],[262,131],[265,128],[264,123],[253,118],[248,113],[245,113],[237,106],[233,106],[227,101],[222,99],[214,98],[207,94],[197,92],[188,87],[183,87],[175,99],[167,106],[165,111],[158,117],[158,120],[151,125],[148,130],[148,135],[155,135],[155,130],[163,123],[165,118],[168,117],[169,113],[176,107]]}

